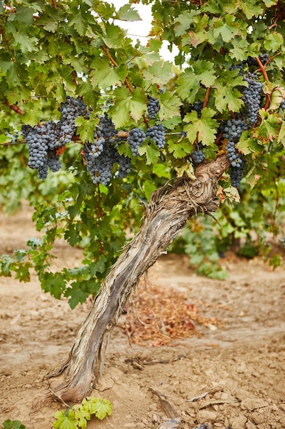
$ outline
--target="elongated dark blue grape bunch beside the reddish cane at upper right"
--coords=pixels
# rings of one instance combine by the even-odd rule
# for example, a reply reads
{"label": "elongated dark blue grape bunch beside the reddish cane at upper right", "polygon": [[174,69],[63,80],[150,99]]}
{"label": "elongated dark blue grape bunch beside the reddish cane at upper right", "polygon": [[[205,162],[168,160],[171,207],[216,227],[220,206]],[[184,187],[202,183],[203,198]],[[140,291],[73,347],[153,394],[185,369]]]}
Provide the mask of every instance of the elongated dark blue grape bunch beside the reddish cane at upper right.
{"label": "elongated dark blue grape bunch beside the reddish cane at upper right", "polygon": [[263,84],[258,81],[256,73],[243,75],[243,80],[248,83],[248,88],[244,87],[242,90],[242,99],[245,103],[247,119],[253,125],[258,120]]}

